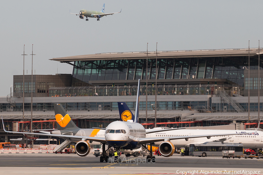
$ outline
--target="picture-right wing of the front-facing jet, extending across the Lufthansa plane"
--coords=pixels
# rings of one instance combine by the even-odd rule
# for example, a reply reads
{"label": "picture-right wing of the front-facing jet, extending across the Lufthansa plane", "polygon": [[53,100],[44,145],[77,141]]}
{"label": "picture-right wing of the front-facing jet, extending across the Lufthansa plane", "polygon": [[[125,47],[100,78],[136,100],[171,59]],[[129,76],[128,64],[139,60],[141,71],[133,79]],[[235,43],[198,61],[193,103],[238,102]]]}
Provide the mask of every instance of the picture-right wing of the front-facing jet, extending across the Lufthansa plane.
{"label": "picture-right wing of the front-facing jet, extending across the Lufthansa plane", "polygon": [[241,134],[253,134],[255,132],[249,132],[249,133],[227,133],[227,134],[206,134],[206,135],[195,135],[195,136],[174,136],[174,137],[149,137],[149,138],[138,138],[138,145],[146,144],[146,143],[153,143],[158,141],[169,141],[169,140],[177,140],[177,139],[191,139],[191,138],[199,138],[199,137],[207,137],[207,139],[210,139],[214,136],[227,136],[227,135],[241,135]]}

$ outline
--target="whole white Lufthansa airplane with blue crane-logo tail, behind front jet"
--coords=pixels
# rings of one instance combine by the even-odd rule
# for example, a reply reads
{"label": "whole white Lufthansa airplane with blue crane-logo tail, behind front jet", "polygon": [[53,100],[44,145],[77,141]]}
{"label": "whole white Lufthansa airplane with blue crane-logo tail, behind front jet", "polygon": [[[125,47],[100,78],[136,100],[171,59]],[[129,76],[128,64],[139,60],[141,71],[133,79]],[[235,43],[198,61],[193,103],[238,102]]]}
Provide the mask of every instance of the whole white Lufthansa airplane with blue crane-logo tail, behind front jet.
{"label": "whole white Lufthansa airplane with blue crane-logo tail, behind front jet", "polygon": [[[120,119],[126,121],[124,116],[129,116],[129,120],[134,120],[134,115],[124,102],[118,102]],[[154,131],[155,129],[146,129],[146,131]],[[222,134],[221,136],[211,136],[209,139],[205,137],[171,140],[170,142],[175,148],[189,148],[190,144],[202,144],[210,141],[220,141],[227,143],[242,143],[244,148],[263,148],[263,132],[257,131],[250,133],[251,130],[220,130],[220,129],[185,129],[180,130],[164,130],[160,132],[152,132],[146,134],[146,138],[172,137],[172,136],[195,136],[209,134]],[[232,135],[226,133],[243,133],[240,135]],[[159,146],[162,142],[155,141],[153,146]]]}

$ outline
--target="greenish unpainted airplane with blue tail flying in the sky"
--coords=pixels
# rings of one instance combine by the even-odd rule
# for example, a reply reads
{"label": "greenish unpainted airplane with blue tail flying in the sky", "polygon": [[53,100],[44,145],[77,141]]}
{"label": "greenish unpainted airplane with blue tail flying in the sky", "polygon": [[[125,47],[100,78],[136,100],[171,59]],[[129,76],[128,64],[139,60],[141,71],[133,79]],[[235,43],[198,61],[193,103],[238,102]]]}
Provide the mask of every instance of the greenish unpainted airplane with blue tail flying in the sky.
{"label": "greenish unpainted airplane with blue tail flying in the sky", "polygon": [[[70,13],[70,14],[79,15],[80,19],[84,19],[84,17],[86,17],[87,18],[86,21],[89,20],[88,17],[96,17],[97,21],[99,21],[100,18],[103,16],[115,14],[115,13],[104,13],[104,7],[105,7],[105,4],[103,4],[101,12],[82,9],[82,10],[80,10],[79,14],[76,14],[76,13]],[[122,12],[122,10],[120,12],[116,12],[116,13],[121,13],[121,12]]]}

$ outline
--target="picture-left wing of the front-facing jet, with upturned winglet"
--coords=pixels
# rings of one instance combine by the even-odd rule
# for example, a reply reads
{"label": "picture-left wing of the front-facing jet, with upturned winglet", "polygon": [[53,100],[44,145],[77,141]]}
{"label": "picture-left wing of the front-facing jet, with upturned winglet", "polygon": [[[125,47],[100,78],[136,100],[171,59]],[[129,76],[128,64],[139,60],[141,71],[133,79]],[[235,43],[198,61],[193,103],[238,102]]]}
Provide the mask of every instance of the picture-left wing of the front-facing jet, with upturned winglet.
{"label": "picture-left wing of the front-facing jet, with upturned winglet", "polygon": [[[3,122],[3,117],[2,117]],[[31,135],[39,135],[39,136],[54,136],[59,137],[65,140],[70,139],[82,139],[82,140],[89,140],[89,141],[96,141],[101,143],[107,143],[105,140],[105,137],[90,137],[90,136],[72,136],[72,135],[60,135],[60,134],[47,134],[47,133],[32,133],[32,132],[13,132],[13,131],[6,131],[4,122],[3,122],[3,128],[5,132],[12,133],[12,134],[31,134]]]}

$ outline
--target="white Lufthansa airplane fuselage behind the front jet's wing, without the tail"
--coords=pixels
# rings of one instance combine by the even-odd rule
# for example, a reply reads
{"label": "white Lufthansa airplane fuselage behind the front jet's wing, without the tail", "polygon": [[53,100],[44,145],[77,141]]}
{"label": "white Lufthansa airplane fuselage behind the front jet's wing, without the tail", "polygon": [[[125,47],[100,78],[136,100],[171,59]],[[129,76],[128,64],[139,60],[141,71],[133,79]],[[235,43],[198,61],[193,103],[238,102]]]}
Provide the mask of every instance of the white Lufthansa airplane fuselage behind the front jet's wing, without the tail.
{"label": "white Lufthansa airplane fuselage behind the front jet's wing, without the tail", "polygon": [[[252,132],[251,130],[213,130],[213,129],[181,129],[175,131],[157,132],[147,134],[146,137],[163,137],[163,136],[191,136],[191,135],[205,135],[205,134],[224,134],[224,133],[244,133],[241,135],[228,135],[228,136],[212,136],[210,139],[207,137],[191,138],[186,141],[185,139],[171,140],[176,148],[189,148],[189,144],[201,144],[209,141],[219,139],[226,139],[228,143],[242,143],[243,148],[263,148],[263,132],[257,131],[253,134],[245,134]],[[161,142],[155,142],[158,146]]]}

